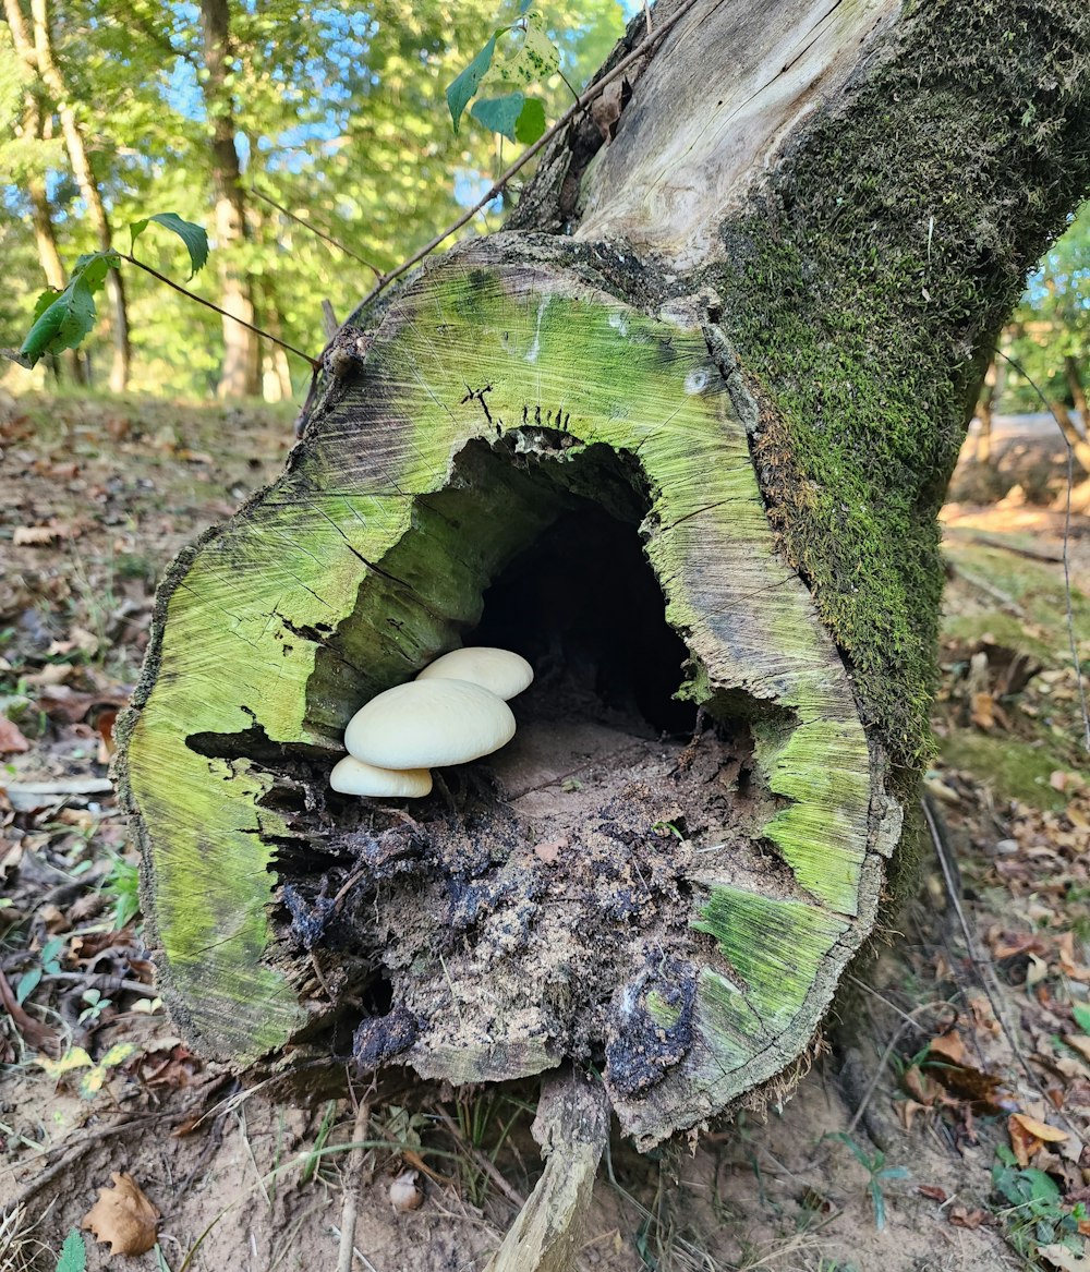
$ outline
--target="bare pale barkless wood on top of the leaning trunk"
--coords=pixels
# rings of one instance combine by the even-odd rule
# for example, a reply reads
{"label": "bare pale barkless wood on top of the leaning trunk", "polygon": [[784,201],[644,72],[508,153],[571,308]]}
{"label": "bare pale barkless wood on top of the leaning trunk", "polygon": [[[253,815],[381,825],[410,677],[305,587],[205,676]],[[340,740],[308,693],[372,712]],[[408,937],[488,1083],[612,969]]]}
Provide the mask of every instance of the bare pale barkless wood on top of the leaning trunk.
{"label": "bare pale barkless wood on top of the leaning trunk", "polygon": [[859,70],[860,46],[899,8],[898,0],[696,5],[591,162],[576,237],[619,238],[678,268],[720,258],[725,214],[797,125]]}

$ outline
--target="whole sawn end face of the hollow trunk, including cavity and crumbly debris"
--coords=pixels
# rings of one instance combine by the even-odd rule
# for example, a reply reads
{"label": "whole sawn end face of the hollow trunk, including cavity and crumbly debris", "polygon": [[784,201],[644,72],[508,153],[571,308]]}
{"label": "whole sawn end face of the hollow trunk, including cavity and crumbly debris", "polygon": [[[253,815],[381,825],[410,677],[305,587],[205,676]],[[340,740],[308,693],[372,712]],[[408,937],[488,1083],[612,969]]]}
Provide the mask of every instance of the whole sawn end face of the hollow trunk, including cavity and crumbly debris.
{"label": "whole sawn end face of the hollow trunk, including cavity and crumbly debris", "polygon": [[[646,1147],[808,1047],[898,813],[698,310],[476,252],[173,567],[120,770],[145,912],[206,1052],[571,1060]],[[463,641],[534,664],[515,742],[332,792],[354,711]]]}

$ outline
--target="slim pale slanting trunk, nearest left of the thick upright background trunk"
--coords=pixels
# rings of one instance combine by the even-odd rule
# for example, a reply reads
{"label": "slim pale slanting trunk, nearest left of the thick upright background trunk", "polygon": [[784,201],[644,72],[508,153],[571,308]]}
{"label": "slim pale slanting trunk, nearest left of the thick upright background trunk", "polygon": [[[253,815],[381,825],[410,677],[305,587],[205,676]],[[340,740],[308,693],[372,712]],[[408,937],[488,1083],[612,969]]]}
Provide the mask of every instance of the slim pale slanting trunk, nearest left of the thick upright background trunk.
{"label": "slim pale slanting trunk, nearest left of the thick upright background trunk", "polygon": [[[18,46],[20,34],[11,22],[13,14],[19,14],[18,25],[23,28],[22,37],[25,38],[25,28],[19,13],[19,0],[5,0],[5,11]],[[34,66],[53,98],[53,104],[61,121],[61,131],[69,153],[69,162],[72,165],[72,176],[86,204],[88,215],[98,238],[98,245],[103,252],[108,252],[113,244],[109,219],[106,215],[102,193],[99,192],[98,182],[90,165],[90,158],[84,145],[83,131],[76,120],[75,111],[69,102],[64,75],[53,59],[47,0],[31,0],[31,17],[34,24]],[[113,366],[109,373],[109,387],[114,393],[122,393],[128,384],[131,346],[128,341],[128,307],[125,299],[125,281],[120,271],[109,271],[106,286],[111,300],[113,328]]]}

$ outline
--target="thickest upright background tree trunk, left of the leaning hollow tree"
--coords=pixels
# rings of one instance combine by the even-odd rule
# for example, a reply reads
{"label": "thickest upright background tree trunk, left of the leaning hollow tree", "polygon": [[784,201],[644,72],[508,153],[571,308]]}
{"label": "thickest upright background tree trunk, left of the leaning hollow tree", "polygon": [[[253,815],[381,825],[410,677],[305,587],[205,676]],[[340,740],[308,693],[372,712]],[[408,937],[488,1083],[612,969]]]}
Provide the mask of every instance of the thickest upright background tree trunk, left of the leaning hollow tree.
{"label": "thickest upright background tree trunk, left of the leaning hollow tree", "polygon": [[[207,78],[201,89],[209,116],[212,150],[212,187],[216,195],[216,257],[220,262],[220,308],[243,322],[254,321],[253,282],[239,262],[248,233],[242,172],[235,149],[234,103],[230,74],[230,8],[228,0],[201,0],[201,31]],[[220,397],[256,397],[261,393],[261,355],[257,335],[224,318],[224,365]]]}

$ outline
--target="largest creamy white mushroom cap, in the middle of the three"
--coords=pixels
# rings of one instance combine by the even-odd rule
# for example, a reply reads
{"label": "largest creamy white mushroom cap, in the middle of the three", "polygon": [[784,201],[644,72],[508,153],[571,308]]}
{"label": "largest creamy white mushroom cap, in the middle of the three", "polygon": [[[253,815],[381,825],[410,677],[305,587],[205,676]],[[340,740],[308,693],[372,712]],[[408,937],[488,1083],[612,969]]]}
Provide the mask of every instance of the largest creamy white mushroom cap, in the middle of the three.
{"label": "largest creamy white mushroom cap, in the middle of the three", "polygon": [[410,681],[360,707],[345,747],[382,768],[431,768],[488,756],[514,735],[511,709],[479,684]]}

